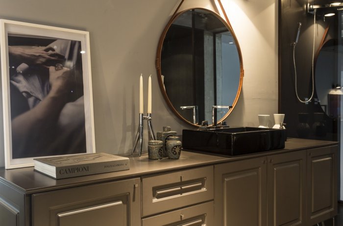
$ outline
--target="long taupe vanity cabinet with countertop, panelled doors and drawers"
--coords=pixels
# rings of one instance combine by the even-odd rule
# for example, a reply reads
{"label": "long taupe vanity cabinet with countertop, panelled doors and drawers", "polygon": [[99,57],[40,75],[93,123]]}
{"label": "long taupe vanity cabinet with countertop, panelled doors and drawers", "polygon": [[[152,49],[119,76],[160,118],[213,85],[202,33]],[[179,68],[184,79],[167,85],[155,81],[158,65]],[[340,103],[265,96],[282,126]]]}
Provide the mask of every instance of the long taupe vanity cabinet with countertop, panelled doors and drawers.
{"label": "long taupe vanity cabinet with countertop, panelled doors and drawers", "polygon": [[0,226],[312,226],[337,215],[337,142],[292,138],[241,156],[130,157],[130,170],[54,180],[0,169]]}

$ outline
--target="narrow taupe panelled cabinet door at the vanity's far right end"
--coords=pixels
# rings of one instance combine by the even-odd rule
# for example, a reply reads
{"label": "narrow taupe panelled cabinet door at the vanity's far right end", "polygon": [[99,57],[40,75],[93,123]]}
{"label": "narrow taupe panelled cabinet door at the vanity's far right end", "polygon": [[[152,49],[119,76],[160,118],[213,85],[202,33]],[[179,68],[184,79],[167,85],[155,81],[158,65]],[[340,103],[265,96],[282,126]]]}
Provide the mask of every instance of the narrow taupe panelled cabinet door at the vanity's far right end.
{"label": "narrow taupe panelled cabinet door at the vanity's far right end", "polygon": [[307,151],[308,225],[337,215],[337,146]]}

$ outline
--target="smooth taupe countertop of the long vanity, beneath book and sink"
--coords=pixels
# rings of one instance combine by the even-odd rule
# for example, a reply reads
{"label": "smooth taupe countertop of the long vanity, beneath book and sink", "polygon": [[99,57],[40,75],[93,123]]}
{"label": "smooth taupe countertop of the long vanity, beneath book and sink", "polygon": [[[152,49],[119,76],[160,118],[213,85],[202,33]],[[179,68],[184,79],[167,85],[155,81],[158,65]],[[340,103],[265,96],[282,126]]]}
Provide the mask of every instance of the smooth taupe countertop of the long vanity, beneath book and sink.
{"label": "smooth taupe countertop of the long vanity, beneath book and sink", "polygon": [[207,166],[230,161],[237,161],[248,158],[268,156],[289,151],[298,151],[304,149],[319,148],[325,146],[337,145],[334,141],[308,140],[298,138],[288,138],[285,142],[285,149],[264,151],[254,154],[245,154],[237,156],[213,155],[200,153],[197,151],[181,152],[180,159],[161,159],[149,160],[147,153],[141,157],[131,156],[130,169],[112,173],[104,173],[90,176],[78,176],[66,179],[55,180],[49,176],[33,171],[33,167],[5,170],[0,168],[0,181],[17,189],[24,194],[45,192],[56,189],[68,188],[73,186],[94,184],[99,182],[113,181],[118,179],[133,178],[139,176],[149,176],[156,173],[170,172],[199,166]]}

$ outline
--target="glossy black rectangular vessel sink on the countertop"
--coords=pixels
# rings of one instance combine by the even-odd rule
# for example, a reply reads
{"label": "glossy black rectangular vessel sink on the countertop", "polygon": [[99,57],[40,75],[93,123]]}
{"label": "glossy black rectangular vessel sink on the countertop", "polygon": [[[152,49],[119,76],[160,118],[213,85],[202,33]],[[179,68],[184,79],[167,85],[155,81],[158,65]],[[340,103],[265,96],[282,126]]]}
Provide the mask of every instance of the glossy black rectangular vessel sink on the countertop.
{"label": "glossy black rectangular vessel sink on the countertop", "polygon": [[224,127],[182,130],[182,147],[225,155],[285,148],[286,130],[258,127]]}

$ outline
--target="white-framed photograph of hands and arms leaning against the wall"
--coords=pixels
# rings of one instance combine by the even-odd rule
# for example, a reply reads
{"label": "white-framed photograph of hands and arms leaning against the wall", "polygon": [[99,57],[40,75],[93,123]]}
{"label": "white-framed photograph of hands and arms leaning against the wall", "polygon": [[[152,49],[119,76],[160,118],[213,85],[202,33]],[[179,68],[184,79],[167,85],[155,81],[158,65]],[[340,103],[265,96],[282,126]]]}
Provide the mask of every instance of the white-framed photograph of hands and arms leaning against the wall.
{"label": "white-framed photograph of hands and arms leaning against the wall", "polygon": [[0,20],[5,168],[95,152],[89,32]]}

